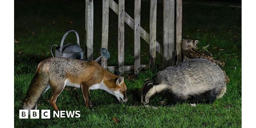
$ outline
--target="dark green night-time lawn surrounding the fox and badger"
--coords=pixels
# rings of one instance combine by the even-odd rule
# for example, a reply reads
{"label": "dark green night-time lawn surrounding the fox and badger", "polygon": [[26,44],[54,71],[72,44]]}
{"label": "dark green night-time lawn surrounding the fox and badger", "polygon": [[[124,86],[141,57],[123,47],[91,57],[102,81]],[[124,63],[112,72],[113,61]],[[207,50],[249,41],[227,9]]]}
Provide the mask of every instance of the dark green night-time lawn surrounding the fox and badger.
{"label": "dark green night-time lawn surrounding the fox and badger", "polygon": [[[101,1],[94,1],[94,58],[101,43]],[[126,1],[125,11],[133,17],[133,1]],[[141,3],[141,26],[149,32],[149,2]],[[97,14],[97,15],[96,15]],[[79,118],[19,119],[19,109],[37,64],[51,57],[52,44],[60,45],[64,33],[70,29],[80,35],[84,45],[84,1],[15,1],[14,33],[14,126],[15,127],[241,127],[241,8],[183,4],[182,38],[199,40],[199,48],[209,44],[207,50],[226,64],[224,70],[230,78],[227,93],[212,104],[188,103],[162,105],[166,100],[155,97],[149,106],[140,104],[138,90],[156,71],[143,71],[138,76],[124,74],[127,103],[118,103],[114,96],[102,90],[91,91],[93,110],[85,108],[82,91],[66,87],[57,99],[60,110],[79,110]],[[117,15],[109,10],[109,44],[111,58],[108,65],[117,64]],[[53,21],[55,22],[53,24]],[[71,22],[72,21],[72,22]],[[133,64],[133,31],[125,25],[125,65]],[[157,6],[157,41],[162,43],[162,3]],[[67,36],[66,43],[75,43],[75,35]],[[148,44],[141,39],[141,63],[148,64]],[[86,53],[86,52],[85,52]],[[161,63],[157,55],[157,63]],[[38,109],[51,109],[52,90],[38,102]],[[113,117],[118,119],[116,123]]]}

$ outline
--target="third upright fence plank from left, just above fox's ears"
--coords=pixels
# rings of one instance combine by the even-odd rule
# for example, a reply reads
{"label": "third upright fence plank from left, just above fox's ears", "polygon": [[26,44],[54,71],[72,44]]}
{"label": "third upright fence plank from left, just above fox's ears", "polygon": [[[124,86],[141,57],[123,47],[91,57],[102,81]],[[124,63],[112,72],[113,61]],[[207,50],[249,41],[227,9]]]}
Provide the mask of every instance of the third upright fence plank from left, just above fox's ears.
{"label": "third upright fence plank from left, just above fox's ears", "polygon": [[118,70],[124,72],[124,0],[118,0]]}

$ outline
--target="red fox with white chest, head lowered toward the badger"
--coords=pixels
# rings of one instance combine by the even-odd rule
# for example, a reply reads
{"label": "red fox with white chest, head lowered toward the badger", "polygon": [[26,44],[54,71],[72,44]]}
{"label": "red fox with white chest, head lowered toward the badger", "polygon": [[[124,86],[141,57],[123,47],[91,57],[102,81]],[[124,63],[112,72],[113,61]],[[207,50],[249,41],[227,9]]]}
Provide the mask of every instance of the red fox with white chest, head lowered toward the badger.
{"label": "red fox with white chest, head lowered toward the badger", "polygon": [[39,98],[52,87],[50,104],[59,110],[56,100],[65,86],[81,88],[86,108],[93,106],[90,90],[101,89],[115,95],[119,102],[127,102],[124,77],[112,74],[96,61],[52,57],[41,61],[26,94],[23,109],[37,109]]}

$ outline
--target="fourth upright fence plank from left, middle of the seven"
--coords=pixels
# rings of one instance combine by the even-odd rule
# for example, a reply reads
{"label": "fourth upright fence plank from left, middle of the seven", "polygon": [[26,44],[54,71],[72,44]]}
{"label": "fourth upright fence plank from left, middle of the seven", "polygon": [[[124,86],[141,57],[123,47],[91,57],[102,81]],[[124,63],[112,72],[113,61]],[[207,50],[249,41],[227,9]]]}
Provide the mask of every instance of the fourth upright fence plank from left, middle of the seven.
{"label": "fourth upright fence plank from left, middle of the seven", "polygon": [[140,4],[141,0],[134,1],[134,74],[140,72]]}

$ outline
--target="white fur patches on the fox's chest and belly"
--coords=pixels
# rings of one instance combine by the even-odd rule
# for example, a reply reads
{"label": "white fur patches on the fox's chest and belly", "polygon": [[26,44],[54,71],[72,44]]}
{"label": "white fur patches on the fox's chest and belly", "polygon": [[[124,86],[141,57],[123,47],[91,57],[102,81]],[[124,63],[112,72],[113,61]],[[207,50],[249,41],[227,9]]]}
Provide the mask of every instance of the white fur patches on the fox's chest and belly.
{"label": "white fur patches on the fox's chest and belly", "polygon": [[[72,83],[72,82],[70,82],[69,79],[65,80],[65,86],[71,86],[71,87],[76,87],[76,88],[80,88],[81,87],[80,84]],[[99,84],[93,84],[89,89],[90,90],[102,89],[102,90],[108,91],[108,88],[103,83],[103,81],[101,83],[99,83]]]}

